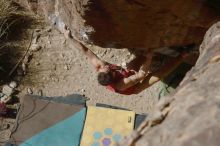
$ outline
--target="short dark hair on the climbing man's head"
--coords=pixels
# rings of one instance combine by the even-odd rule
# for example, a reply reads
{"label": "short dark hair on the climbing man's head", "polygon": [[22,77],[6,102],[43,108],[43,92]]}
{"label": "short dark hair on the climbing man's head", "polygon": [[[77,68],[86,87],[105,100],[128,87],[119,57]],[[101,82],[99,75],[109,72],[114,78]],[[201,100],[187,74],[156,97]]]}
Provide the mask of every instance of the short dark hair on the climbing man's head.
{"label": "short dark hair on the climbing man's head", "polygon": [[100,85],[107,86],[113,82],[111,72],[98,73],[98,82]]}

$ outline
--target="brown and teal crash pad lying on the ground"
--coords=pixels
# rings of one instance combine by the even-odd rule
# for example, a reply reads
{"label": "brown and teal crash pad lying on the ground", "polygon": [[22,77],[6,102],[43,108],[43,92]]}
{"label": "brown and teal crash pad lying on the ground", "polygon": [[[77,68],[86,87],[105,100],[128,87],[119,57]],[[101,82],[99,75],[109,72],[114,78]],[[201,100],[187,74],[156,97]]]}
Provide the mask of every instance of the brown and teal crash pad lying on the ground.
{"label": "brown and teal crash pad lying on the ground", "polygon": [[53,100],[27,95],[21,100],[11,143],[19,146],[78,146],[85,116],[85,105],[74,104],[71,97]]}

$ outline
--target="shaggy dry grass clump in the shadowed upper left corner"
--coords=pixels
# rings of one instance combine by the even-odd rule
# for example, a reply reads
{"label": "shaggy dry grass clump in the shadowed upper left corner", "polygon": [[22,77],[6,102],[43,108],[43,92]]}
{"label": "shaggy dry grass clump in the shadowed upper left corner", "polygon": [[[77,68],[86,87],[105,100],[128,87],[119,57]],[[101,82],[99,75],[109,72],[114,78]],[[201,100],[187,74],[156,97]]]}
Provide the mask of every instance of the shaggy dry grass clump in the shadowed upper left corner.
{"label": "shaggy dry grass clump in the shadowed upper left corner", "polygon": [[29,43],[27,38],[40,22],[40,17],[14,0],[0,0],[0,85],[9,80]]}

